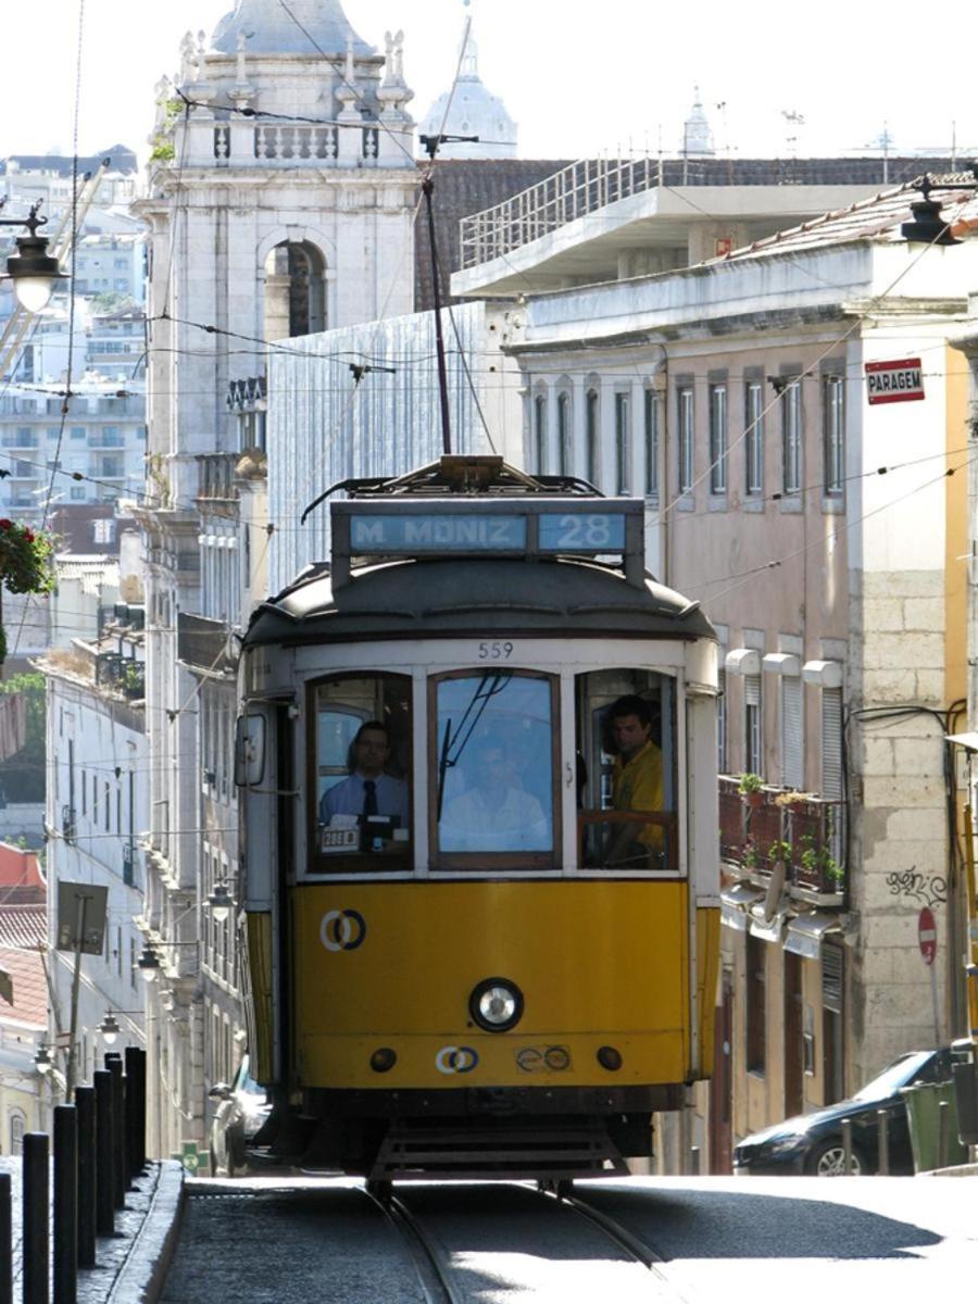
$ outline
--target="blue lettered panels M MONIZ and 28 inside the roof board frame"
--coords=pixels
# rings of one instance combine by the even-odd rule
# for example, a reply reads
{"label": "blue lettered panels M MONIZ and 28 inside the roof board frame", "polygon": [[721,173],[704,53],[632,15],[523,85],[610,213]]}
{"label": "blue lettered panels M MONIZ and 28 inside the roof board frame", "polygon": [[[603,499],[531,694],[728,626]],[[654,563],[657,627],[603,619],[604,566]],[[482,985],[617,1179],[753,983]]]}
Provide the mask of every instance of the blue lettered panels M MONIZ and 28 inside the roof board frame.
{"label": "blue lettered panels M MONIZ and 28 inside the roof board frame", "polygon": [[621,512],[554,510],[532,516],[518,512],[430,512],[389,515],[364,512],[351,518],[349,550],[355,556],[417,556],[419,553],[526,553],[529,523],[536,522],[536,550],[541,553],[619,553],[625,548]]}

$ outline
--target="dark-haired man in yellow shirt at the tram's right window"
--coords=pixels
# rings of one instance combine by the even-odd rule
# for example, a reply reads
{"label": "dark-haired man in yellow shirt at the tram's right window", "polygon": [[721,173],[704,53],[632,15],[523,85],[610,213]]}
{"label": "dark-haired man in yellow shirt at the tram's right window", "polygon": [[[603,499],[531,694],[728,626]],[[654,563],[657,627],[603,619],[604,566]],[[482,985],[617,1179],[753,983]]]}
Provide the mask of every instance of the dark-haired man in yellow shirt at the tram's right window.
{"label": "dark-haired man in yellow shirt at the tram's right window", "polygon": [[[652,708],[644,698],[619,698],[610,711],[612,738],[618,755],[612,775],[612,806],[617,811],[662,811],[662,752],[652,741]],[[656,867],[664,850],[657,824],[615,824],[609,863]],[[638,844],[638,845],[636,845]]]}

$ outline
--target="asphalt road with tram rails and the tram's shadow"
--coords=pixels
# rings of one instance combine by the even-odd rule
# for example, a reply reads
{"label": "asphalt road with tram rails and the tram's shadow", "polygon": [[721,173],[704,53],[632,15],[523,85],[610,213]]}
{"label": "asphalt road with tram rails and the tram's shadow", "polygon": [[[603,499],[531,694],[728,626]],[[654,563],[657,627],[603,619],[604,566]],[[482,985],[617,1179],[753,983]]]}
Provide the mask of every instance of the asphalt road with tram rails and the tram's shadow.
{"label": "asphalt road with tram rails and the tram's shadow", "polygon": [[[651,1179],[575,1188],[666,1261],[662,1278],[529,1188],[404,1187],[404,1201],[479,1304],[835,1295],[952,1297],[978,1265],[978,1178]],[[421,1304],[396,1230],[352,1183],[201,1181],[163,1304]]]}

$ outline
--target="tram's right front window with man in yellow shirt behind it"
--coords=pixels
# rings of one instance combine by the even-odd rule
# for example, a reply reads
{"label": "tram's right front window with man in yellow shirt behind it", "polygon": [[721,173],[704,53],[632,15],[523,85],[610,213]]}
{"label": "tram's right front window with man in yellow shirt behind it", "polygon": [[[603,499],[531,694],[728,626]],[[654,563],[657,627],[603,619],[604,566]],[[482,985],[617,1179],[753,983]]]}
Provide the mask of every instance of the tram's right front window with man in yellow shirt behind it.
{"label": "tram's right front window with man in yellow shirt behind it", "polygon": [[675,689],[651,670],[576,679],[582,868],[675,872]]}

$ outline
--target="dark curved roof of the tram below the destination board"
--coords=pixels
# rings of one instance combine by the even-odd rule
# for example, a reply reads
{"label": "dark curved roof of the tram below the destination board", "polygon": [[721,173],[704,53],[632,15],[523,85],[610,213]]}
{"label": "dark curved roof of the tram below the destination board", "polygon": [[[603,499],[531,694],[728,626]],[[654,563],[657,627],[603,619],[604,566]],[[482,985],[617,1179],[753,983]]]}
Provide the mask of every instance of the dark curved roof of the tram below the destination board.
{"label": "dark curved roof of the tram below the destination board", "polygon": [[245,647],[377,639],[715,639],[699,609],[649,575],[626,583],[599,562],[539,557],[417,558],[366,566],[333,584],[314,567],[252,618]]}

